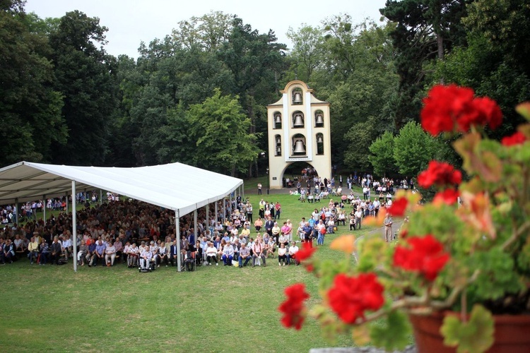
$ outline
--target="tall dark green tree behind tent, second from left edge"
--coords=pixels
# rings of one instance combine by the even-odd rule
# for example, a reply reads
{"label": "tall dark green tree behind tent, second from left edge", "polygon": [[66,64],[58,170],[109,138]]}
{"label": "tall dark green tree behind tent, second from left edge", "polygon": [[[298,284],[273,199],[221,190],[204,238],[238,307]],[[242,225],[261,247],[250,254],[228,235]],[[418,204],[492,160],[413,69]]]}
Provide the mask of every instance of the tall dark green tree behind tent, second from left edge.
{"label": "tall dark green tree behind tent, second from left edge", "polygon": [[99,22],[72,11],[49,35],[57,77],[54,87],[64,95],[62,114],[69,128],[68,143],[54,145],[55,163],[101,165],[105,161],[118,86],[116,59],[102,49],[107,28]]}

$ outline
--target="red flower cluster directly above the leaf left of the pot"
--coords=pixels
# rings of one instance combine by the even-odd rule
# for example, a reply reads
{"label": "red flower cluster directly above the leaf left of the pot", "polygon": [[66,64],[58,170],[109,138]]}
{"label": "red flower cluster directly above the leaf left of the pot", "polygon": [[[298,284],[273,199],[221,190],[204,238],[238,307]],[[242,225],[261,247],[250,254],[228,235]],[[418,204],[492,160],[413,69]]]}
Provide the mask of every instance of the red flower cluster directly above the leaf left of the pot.
{"label": "red flower cluster directly above the leaf left of the pot", "polygon": [[384,304],[383,290],[373,273],[358,277],[341,273],[328,291],[329,306],[345,323],[355,323],[365,317],[366,310],[377,310]]}

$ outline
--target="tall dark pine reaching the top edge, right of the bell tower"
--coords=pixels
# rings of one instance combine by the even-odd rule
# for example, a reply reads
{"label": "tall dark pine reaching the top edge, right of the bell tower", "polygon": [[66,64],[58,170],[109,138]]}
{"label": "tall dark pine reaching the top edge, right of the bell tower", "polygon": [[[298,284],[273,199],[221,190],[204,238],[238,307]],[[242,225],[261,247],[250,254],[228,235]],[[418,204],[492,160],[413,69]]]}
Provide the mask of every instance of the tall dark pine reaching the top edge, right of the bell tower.
{"label": "tall dark pine reaching the top edge, right of the bell tower", "polygon": [[399,90],[394,95],[396,128],[417,119],[423,97],[425,71],[430,60],[443,59],[466,39],[461,18],[466,0],[387,0],[379,11],[396,23],[391,32]]}

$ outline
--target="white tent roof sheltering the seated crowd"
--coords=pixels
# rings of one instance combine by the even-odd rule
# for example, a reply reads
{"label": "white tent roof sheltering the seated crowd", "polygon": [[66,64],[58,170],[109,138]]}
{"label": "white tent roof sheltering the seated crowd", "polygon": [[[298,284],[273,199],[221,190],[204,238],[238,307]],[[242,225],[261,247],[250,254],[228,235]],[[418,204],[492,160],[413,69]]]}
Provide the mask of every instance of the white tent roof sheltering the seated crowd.
{"label": "white tent roof sheltering the seated crowd", "polygon": [[53,198],[94,188],[119,193],[170,210],[179,216],[218,201],[243,184],[228,177],[187,164],[151,167],[73,167],[19,162],[0,169],[0,205],[40,198]]}

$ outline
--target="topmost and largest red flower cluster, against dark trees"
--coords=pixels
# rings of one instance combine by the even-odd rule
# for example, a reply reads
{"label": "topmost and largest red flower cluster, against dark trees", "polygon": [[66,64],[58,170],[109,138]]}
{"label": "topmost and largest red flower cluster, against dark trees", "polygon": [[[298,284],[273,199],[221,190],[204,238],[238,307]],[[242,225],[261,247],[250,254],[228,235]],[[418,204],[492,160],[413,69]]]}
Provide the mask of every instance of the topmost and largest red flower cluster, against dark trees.
{"label": "topmost and largest red flower cluster, against dark trees", "polygon": [[421,126],[432,136],[446,131],[466,132],[471,126],[500,126],[502,112],[497,103],[474,95],[471,88],[435,85],[423,100]]}

